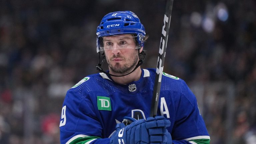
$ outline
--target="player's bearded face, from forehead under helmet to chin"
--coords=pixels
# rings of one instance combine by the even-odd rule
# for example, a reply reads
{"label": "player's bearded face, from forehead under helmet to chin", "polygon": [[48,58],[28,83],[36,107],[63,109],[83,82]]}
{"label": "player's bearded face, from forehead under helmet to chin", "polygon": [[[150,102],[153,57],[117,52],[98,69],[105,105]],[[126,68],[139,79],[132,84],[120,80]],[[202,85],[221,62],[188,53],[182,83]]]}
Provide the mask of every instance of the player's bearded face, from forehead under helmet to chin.
{"label": "player's bearded face, from forehead under helmet to chin", "polygon": [[132,35],[103,37],[103,44],[106,60],[112,71],[128,73],[134,69],[139,56]]}

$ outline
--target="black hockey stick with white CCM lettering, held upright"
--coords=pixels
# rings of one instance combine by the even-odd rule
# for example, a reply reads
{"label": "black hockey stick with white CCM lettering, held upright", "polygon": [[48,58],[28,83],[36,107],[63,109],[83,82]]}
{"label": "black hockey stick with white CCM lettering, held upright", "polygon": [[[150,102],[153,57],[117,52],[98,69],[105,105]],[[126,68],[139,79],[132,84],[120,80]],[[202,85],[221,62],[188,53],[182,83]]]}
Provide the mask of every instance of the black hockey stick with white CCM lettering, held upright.
{"label": "black hockey stick with white CCM lettering, held upright", "polygon": [[156,78],[155,78],[155,85],[154,85],[153,97],[152,97],[152,102],[151,102],[150,117],[155,117],[157,114],[162,73],[163,73],[163,69],[164,69],[165,51],[166,51],[169,26],[170,26],[170,21],[171,21],[171,14],[172,14],[172,4],[173,4],[173,0],[166,1],[165,14],[164,14],[164,25],[162,28],[162,35],[161,35],[159,54],[158,54],[158,60],[157,60]]}

